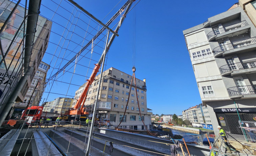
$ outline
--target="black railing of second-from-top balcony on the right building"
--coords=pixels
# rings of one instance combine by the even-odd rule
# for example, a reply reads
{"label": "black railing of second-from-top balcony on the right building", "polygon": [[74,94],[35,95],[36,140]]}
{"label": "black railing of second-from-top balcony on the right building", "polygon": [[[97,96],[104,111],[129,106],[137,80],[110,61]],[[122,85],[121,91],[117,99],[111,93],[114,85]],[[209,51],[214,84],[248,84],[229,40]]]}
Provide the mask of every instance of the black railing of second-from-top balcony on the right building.
{"label": "black railing of second-from-top balcony on the right building", "polygon": [[248,46],[248,45],[252,45],[252,44],[256,44],[256,37],[252,37],[249,39],[240,40],[240,41],[236,41],[233,43],[217,46],[216,48],[214,48],[212,50],[212,53],[214,55],[216,55],[220,52],[224,52],[224,51],[228,51],[228,50],[236,49],[236,48],[241,48],[243,46]]}

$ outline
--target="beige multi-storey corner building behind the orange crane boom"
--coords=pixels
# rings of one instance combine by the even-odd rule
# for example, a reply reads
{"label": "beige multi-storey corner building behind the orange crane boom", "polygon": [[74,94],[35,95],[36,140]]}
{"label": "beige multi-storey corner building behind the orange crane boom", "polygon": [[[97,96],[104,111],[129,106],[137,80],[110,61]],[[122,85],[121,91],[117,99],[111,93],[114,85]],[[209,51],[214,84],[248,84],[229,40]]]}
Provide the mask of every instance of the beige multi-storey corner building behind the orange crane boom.
{"label": "beige multi-storey corner building behind the orange crane boom", "polygon": [[[95,77],[95,81],[88,90],[87,98],[85,99],[85,107],[88,108],[89,114],[91,114],[91,110],[95,104],[97,91],[99,89],[100,92],[99,102],[97,104],[97,116],[100,119],[109,119],[112,125],[117,126],[124,115],[129,91],[131,89],[126,114],[120,126],[130,129],[145,129],[139,115],[139,103],[141,116],[145,125],[147,128],[149,128],[152,113],[147,113],[146,80],[144,79],[142,81],[136,79],[136,90],[134,81],[132,87],[130,86],[132,82],[132,75],[126,74],[113,67],[104,71],[102,77],[101,86],[99,86],[99,75],[97,75]],[[79,87],[79,89],[75,92],[73,106],[76,100],[82,94],[84,90],[83,86]],[[138,94],[139,101],[137,101],[136,93]]]}

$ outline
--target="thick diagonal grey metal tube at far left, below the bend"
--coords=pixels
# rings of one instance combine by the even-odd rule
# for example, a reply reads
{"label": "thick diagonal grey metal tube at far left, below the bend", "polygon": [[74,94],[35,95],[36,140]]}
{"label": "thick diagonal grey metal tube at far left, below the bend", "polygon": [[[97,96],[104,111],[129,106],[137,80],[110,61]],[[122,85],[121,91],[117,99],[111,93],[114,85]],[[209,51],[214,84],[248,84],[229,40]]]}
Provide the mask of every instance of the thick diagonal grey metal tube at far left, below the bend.
{"label": "thick diagonal grey metal tube at far left, below the bend", "polygon": [[33,70],[33,67],[28,67],[27,72],[24,74],[24,76],[21,77],[20,81],[18,82],[17,86],[14,89],[14,92],[11,93],[8,101],[5,103],[5,106],[3,108],[3,111],[0,113],[0,125],[4,122],[4,119],[9,113],[9,110],[13,106],[13,103],[15,102],[17,96],[19,95],[20,91],[22,90],[22,87],[27,82],[28,76],[31,74]]}

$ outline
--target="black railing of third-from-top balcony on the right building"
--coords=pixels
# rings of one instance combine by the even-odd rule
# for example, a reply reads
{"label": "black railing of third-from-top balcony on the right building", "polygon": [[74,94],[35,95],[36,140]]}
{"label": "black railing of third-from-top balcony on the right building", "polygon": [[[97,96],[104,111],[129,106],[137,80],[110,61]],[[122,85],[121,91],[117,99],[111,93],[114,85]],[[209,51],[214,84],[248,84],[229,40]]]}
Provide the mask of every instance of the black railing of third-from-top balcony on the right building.
{"label": "black railing of third-from-top balcony on the right building", "polygon": [[248,69],[248,68],[255,68],[256,67],[256,60],[246,61],[246,62],[239,62],[239,63],[231,63],[226,64],[224,66],[219,67],[220,73],[226,73],[229,71],[234,70],[242,70],[242,69]]}

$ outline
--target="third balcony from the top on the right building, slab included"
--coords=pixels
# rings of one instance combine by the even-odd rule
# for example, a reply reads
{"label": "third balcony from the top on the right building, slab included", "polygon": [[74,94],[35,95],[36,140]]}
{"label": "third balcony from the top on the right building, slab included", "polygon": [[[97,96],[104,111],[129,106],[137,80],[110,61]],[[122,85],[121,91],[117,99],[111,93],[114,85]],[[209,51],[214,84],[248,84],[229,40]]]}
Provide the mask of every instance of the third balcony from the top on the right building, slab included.
{"label": "third balcony from the top on the right building, slab included", "polygon": [[245,62],[239,62],[239,63],[232,63],[229,65],[226,64],[224,66],[221,66],[219,70],[222,76],[229,75],[229,74],[233,76],[235,74],[250,73],[250,72],[256,71],[255,67],[256,67],[256,60],[251,60],[251,61],[245,61]]}

